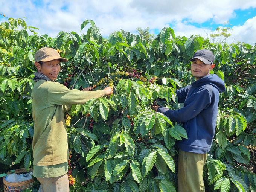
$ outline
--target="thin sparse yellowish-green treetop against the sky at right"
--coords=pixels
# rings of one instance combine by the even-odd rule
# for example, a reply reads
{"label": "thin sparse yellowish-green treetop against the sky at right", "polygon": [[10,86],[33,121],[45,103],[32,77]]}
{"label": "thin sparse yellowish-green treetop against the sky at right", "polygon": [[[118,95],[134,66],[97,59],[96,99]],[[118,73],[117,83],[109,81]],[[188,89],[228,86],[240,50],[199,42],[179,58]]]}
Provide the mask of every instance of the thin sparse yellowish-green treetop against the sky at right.
{"label": "thin sparse yellowish-green treetop against the sky at right", "polygon": [[229,23],[229,21],[225,22],[223,25],[223,28],[217,27],[215,29],[215,33],[210,34],[210,37],[212,38],[213,43],[220,42],[225,43],[226,39],[231,36],[231,33],[233,29],[230,28],[232,24]]}

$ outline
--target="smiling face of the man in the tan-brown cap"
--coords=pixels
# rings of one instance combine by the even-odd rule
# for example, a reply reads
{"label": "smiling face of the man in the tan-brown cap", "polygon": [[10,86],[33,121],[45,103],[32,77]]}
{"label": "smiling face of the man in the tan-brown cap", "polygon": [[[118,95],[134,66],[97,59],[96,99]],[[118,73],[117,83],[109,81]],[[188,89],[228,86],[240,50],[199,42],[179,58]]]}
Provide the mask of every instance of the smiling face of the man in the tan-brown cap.
{"label": "smiling face of the man in the tan-brown cap", "polygon": [[43,62],[42,65],[40,65],[38,62],[35,62],[38,73],[46,75],[52,81],[55,81],[58,77],[59,71],[61,70],[60,64],[61,62],[59,59]]}

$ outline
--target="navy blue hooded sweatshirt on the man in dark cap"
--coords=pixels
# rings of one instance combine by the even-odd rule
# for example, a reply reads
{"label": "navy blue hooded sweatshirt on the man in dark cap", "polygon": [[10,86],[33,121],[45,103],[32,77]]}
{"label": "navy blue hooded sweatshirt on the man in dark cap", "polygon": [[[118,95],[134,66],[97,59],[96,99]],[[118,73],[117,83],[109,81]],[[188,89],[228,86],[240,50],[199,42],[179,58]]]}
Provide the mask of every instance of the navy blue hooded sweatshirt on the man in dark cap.
{"label": "navy blue hooded sweatshirt on the man in dark cap", "polygon": [[185,88],[176,90],[179,102],[184,106],[178,110],[159,107],[158,112],[169,119],[183,122],[187,138],[178,141],[178,147],[187,152],[204,154],[209,152],[215,132],[218,114],[219,93],[225,84],[217,75],[207,75]]}

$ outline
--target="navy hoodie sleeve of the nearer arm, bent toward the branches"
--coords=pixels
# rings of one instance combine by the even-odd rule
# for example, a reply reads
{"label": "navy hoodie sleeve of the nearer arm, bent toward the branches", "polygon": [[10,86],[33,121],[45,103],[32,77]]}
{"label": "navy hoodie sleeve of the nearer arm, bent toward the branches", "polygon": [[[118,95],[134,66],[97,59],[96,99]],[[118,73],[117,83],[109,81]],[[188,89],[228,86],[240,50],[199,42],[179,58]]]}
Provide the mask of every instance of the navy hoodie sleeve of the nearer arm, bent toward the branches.
{"label": "navy hoodie sleeve of the nearer arm, bent toward the branches", "polygon": [[211,104],[212,98],[205,88],[192,94],[186,100],[186,106],[178,110],[171,110],[166,107],[159,107],[157,112],[165,114],[169,119],[176,122],[186,122],[197,116],[204,108]]}

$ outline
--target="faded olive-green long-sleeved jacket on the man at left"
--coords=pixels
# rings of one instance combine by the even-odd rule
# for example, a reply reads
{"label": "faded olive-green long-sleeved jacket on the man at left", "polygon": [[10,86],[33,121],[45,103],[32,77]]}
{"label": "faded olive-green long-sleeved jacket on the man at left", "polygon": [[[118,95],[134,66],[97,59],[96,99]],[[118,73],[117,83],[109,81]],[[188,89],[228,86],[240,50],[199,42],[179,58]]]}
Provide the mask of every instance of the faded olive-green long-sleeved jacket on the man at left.
{"label": "faded olive-green long-sleeved jacket on the man at left", "polygon": [[85,104],[89,99],[106,95],[106,91],[69,90],[62,84],[39,80],[32,89],[34,120],[34,165],[46,166],[67,162],[68,138],[64,112],[71,105]]}

